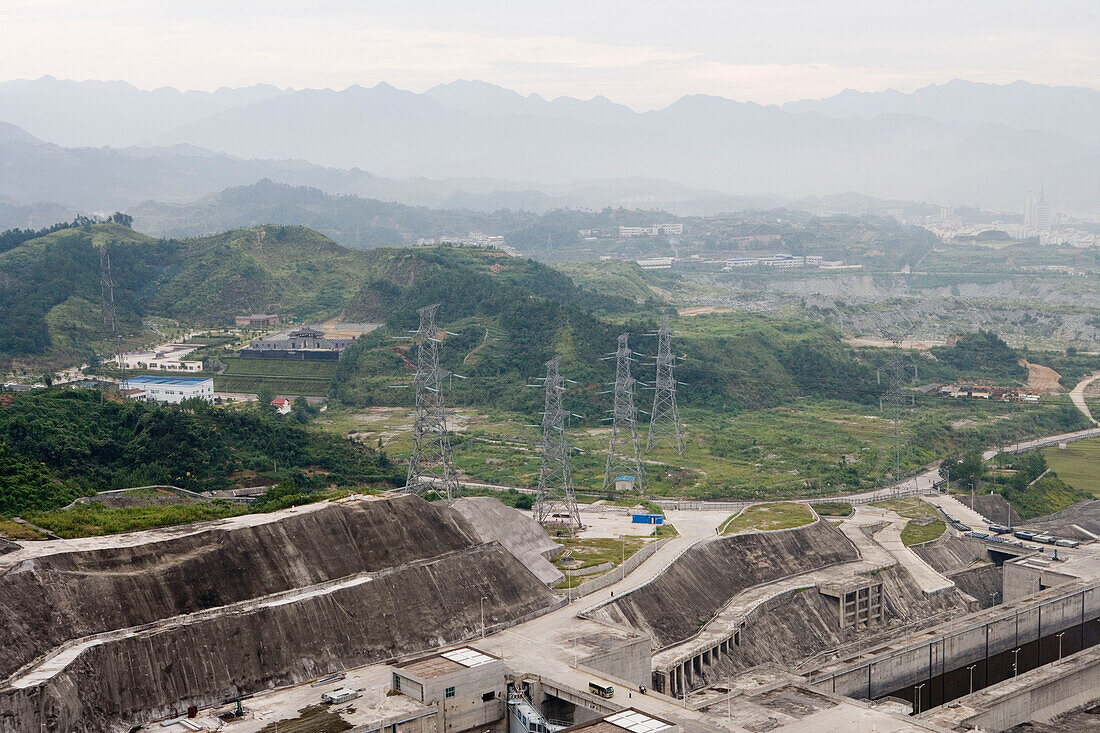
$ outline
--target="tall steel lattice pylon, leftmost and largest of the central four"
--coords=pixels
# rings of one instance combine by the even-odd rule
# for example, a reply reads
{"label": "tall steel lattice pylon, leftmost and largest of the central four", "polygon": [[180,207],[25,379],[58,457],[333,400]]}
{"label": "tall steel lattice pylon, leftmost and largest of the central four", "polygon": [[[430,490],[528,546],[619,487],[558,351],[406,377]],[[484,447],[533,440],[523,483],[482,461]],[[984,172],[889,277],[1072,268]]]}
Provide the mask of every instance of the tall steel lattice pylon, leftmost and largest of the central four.
{"label": "tall steel lattice pylon, leftmost and largest of the central four", "polygon": [[413,423],[413,455],[405,491],[421,494],[427,491],[446,492],[448,499],[461,495],[454,464],[451,462],[451,441],[447,430],[447,406],[443,402],[446,372],[439,365],[442,341],[436,326],[439,304],[417,310],[420,328],[414,342],[417,347],[416,419]]}

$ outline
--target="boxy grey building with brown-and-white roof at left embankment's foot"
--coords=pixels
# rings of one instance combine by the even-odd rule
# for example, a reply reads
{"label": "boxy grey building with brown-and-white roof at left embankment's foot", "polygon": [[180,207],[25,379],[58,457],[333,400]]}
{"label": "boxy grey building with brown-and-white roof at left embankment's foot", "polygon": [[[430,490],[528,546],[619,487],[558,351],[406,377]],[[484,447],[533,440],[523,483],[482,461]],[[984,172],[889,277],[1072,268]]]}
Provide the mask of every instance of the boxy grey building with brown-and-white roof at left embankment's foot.
{"label": "boxy grey building with brown-and-white roof at left embankment's foot", "polygon": [[393,667],[393,689],[439,710],[439,733],[484,730],[505,718],[504,660],[470,646]]}

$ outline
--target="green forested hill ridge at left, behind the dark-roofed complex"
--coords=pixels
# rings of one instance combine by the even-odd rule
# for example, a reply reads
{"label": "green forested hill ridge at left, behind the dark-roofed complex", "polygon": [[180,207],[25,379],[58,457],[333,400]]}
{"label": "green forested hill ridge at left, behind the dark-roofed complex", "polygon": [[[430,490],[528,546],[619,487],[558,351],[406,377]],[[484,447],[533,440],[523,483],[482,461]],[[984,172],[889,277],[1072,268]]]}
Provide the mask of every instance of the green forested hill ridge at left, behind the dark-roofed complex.
{"label": "green forested hill ridge at left, behind the dark-roofed complex", "polygon": [[[604,313],[635,304],[578,289],[546,265],[498,252],[450,249],[351,250],[304,227],[253,227],[193,239],[152,239],[119,225],[26,232],[0,252],[0,365],[86,359],[103,338],[100,254],[110,253],[120,330],[141,330],[147,316],[195,326],[226,325],[241,313],[289,314],[301,320],[341,315],[408,322],[428,302],[455,302],[452,313],[504,292],[541,296]],[[472,278],[477,280],[473,287]],[[387,288],[420,283],[399,302]],[[466,305],[459,306],[459,302]],[[380,310],[384,307],[384,311]],[[345,314],[346,310],[346,314]]]}

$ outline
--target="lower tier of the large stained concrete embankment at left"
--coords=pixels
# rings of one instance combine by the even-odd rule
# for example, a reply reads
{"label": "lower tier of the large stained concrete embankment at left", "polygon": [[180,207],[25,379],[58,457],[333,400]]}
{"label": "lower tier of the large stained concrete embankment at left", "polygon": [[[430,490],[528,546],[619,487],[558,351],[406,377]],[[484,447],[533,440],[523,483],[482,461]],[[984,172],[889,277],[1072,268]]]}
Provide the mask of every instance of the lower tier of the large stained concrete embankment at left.
{"label": "lower tier of the large stained concrete embankment at left", "polygon": [[352,587],[94,644],[36,686],[0,692],[0,732],[127,730],[188,704],[415,654],[558,600],[498,544]]}

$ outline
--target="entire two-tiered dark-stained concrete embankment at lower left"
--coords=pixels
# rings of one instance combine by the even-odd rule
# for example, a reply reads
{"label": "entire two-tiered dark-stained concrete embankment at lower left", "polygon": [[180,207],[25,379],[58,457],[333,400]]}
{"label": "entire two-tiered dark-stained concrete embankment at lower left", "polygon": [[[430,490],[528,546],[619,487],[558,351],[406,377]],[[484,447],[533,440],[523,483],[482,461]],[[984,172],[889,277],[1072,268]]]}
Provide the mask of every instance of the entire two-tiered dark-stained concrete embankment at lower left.
{"label": "entire two-tiered dark-stained concrete embankment at lower left", "polygon": [[482,609],[499,627],[560,604],[502,544],[416,496],[293,512],[4,556],[0,731],[123,730],[473,637]]}

